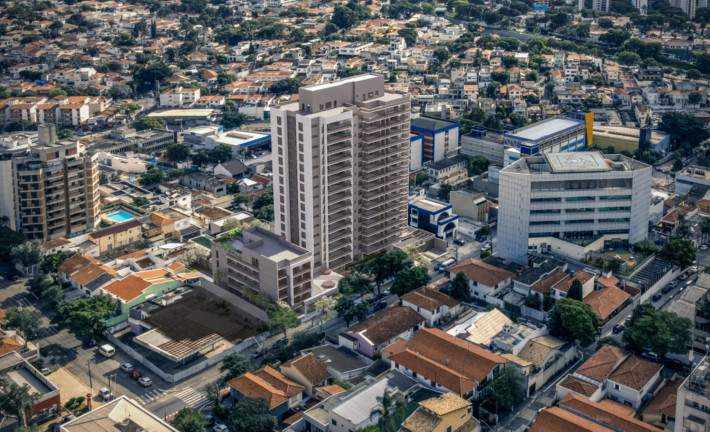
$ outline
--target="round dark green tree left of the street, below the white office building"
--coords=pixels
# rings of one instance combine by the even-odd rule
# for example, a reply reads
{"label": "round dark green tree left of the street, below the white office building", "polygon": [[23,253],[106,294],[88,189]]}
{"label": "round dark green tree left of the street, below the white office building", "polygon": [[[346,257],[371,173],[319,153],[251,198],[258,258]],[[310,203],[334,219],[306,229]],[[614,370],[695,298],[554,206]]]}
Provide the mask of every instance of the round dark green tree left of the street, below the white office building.
{"label": "round dark green tree left of the street, below the white office building", "polygon": [[550,312],[550,333],[569,341],[579,340],[586,347],[599,334],[599,317],[589,305],[563,298]]}

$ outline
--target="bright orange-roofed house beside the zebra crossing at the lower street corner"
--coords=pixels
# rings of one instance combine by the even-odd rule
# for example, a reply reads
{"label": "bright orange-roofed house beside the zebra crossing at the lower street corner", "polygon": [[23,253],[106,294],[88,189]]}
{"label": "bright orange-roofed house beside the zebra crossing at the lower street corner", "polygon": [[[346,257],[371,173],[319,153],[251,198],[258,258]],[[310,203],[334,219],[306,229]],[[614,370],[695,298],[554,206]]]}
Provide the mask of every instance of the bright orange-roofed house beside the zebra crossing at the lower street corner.
{"label": "bright orange-roofed house beside the zebra crossing at the lower street corner", "polygon": [[301,402],[305,390],[271,366],[247,372],[227,384],[234,399],[263,399],[269,407],[269,414],[279,418]]}

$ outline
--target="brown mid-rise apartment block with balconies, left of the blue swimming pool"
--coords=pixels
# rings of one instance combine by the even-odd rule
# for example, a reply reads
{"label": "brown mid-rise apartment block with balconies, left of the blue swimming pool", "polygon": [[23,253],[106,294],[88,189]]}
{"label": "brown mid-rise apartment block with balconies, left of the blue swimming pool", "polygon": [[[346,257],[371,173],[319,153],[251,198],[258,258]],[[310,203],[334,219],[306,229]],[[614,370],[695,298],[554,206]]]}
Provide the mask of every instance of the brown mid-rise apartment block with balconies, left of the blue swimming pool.
{"label": "brown mid-rise apartment block with balconies, left of the blue swimming pool", "polygon": [[55,138],[54,125],[41,126],[39,143],[12,156],[14,217],[27,238],[71,237],[98,223],[98,157]]}

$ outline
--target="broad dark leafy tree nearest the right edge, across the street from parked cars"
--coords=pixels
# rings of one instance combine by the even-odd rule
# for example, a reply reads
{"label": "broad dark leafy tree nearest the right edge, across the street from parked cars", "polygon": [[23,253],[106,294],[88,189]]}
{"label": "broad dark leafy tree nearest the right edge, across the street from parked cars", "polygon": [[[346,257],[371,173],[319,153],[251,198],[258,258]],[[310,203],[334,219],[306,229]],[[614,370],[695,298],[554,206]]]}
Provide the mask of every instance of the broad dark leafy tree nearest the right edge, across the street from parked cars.
{"label": "broad dark leafy tree nearest the right edge, across the street from parked cars", "polygon": [[693,322],[673,312],[657,311],[644,304],[637,307],[624,330],[624,341],[629,349],[651,349],[663,360],[668,353],[687,353],[692,342]]}

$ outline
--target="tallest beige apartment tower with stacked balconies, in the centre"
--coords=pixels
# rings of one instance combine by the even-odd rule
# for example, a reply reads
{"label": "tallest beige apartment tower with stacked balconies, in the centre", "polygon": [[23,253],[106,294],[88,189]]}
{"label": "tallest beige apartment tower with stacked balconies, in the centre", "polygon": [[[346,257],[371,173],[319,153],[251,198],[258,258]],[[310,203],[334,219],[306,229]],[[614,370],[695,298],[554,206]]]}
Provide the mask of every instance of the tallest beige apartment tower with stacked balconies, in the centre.
{"label": "tallest beige apartment tower with stacked balconies, in the centre", "polygon": [[275,232],[342,269],[407,226],[409,94],[364,74],[303,87],[271,110]]}

